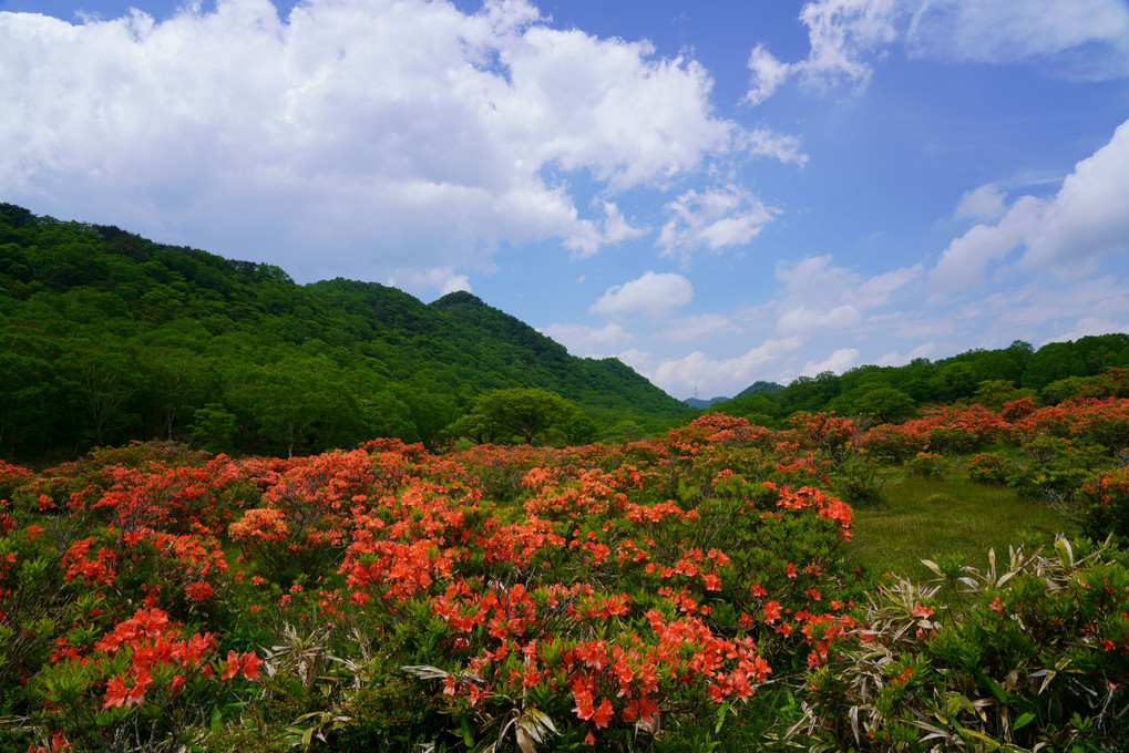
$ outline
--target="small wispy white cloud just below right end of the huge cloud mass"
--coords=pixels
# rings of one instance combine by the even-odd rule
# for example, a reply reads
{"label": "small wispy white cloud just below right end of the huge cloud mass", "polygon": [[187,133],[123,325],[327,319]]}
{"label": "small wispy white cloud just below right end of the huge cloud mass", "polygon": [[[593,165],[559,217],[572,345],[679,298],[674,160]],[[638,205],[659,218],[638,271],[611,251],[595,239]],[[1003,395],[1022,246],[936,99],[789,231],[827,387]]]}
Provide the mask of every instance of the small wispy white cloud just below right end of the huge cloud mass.
{"label": "small wispy white cloud just below right end of the huge cloud mass", "polygon": [[658,246],[664,256],[683,259],[702,248],[717,252],[749,243],[779,213],[734,185],[703,193],[691,189],[668,203],[666,211],[671,219],[663,226]]}

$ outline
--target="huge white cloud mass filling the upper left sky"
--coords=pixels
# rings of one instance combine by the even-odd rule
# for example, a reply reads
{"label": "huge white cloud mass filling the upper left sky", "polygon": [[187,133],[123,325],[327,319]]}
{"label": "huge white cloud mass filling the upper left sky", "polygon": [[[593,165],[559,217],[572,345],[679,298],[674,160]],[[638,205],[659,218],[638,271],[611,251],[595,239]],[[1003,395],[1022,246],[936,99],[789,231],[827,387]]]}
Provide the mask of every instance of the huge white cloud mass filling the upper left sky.
{"label": "huge white cloud mass filling the upper left sky", "polygon": [[270,253],[300,280],[386,279],[489,270],[502,242],[587,255],[642,231],[611,201],[579,211],[554,172],[612,196],[730,154],[802,159],[715,116],[695,61],[552,28],[525,0],[199,8],[78,26],[0,12],[6,200]]}

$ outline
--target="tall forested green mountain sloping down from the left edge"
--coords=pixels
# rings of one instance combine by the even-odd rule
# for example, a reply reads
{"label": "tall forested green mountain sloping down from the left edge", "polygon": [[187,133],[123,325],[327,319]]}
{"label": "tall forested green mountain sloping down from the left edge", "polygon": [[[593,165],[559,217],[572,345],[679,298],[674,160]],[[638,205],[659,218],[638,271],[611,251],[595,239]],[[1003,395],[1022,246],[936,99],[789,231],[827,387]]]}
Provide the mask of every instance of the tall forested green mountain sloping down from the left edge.
{"label": "tall forested green mountain sloping down from the left edge", "polygon": [[195,437],[215,450],[435,443],[480,393],[541,387],[596,422],[690,412],[615,359],[466,294],[296,284],[269,264],[0,204],[0,456]]}

